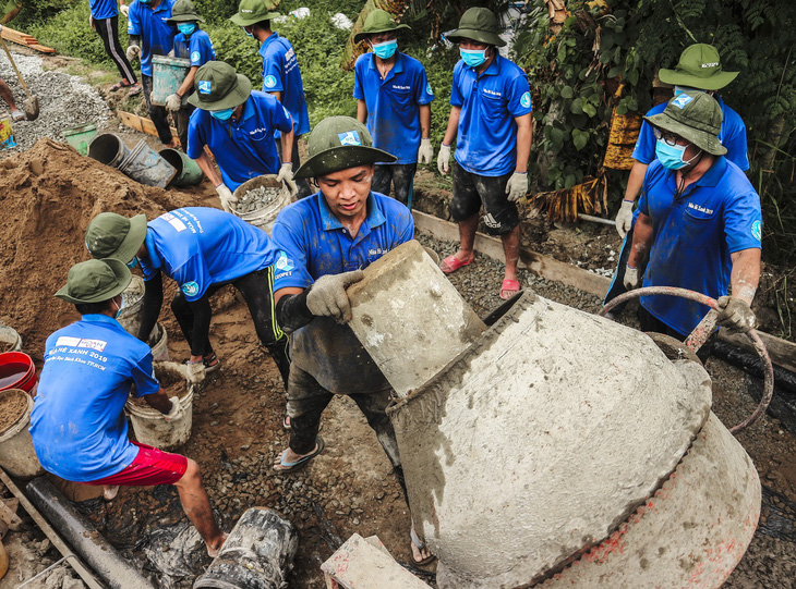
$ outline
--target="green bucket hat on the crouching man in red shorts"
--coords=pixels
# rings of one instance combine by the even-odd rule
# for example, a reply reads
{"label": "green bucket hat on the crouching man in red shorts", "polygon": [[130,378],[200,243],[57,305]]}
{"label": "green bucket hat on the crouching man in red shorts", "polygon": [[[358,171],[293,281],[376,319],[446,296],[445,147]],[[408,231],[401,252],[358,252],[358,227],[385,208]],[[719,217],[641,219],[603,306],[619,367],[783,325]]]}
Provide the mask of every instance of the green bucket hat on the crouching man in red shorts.
{"label": "green bucket hat on the crouching man in red shorts", "polygon": [[67,284],[56,296],[74,305],[110,300],[130,285],[133,275],[123,261],[88,260],[69,269]]}

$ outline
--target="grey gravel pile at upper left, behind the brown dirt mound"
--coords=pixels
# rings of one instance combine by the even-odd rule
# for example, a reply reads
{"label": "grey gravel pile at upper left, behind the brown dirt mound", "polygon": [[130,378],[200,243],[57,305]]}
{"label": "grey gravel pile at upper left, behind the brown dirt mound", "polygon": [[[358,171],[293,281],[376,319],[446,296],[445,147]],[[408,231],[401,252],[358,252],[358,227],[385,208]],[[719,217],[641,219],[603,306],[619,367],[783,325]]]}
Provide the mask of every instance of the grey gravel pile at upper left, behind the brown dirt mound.
{"label": "grey gravel pile at upper left, behind the brown dirt mound", "polygon": [[[39,116],[35,121],[12,123],[16,147],[0,151],[0,159],[29,149],[41,137],[65,142],[63,130],[84,123],[105,125],[111,116],[108,106],[99,94],[80,77],[43,69],[38,56],[14,53],[19,68],[32,94],[38,96]],[[27,98],[5,52],[0,52],[0,77],[11,88],[16,106]],[[5,102],[0,101],[0,116],[9,113]]]}

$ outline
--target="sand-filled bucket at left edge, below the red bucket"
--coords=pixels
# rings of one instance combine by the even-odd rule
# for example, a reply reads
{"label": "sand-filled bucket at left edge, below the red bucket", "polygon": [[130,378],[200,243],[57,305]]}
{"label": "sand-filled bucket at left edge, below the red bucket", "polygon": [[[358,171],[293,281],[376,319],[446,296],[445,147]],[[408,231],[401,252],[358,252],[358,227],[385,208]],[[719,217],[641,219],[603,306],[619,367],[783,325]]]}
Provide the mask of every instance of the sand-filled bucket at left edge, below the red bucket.
{"label": "sand-filled bucket at left edge, below the red bucket", "polygon": [[[0,416],[5,427],[0,431],[0,466],[19,479],[32,479],[44,474],[27,431],[33,410],[33,398],[26,391],[0,391]],[[13,412],[14,415],[5,415]]]}

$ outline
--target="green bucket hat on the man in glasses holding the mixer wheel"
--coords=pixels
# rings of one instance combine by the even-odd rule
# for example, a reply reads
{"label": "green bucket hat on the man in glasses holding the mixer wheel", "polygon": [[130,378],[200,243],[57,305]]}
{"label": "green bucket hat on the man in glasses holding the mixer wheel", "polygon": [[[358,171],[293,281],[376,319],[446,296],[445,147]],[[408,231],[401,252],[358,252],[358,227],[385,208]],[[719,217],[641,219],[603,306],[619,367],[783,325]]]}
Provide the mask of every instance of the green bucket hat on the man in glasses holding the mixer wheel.
{"label": "green bucket hat on the man in glasses holding the mixer wheel", "polygon": [[714,156],[727,152],[727,148],[719,140],[722,119],[719,102],[709,94],[696,90],[674,97],[662,113],[644,116],[644,121],[652,126],[679,135]]}

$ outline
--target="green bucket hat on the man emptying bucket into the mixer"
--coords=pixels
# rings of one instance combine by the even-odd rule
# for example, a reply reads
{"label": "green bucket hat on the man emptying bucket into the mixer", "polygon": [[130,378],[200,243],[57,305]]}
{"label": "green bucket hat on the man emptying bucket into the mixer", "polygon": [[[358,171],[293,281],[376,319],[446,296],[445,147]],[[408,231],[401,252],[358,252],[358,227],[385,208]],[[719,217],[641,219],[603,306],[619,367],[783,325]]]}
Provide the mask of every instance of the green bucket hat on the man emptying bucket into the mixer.
{"label": "green bucket hat on the man emptying bucket into the mixer", "polygon": [[293,177],[319,177],[357,165],[391,163],[398,159],[373,147],[365,125],[351,116],[329,116],[321,121],[310,134],[307,148],[310,158]]}

